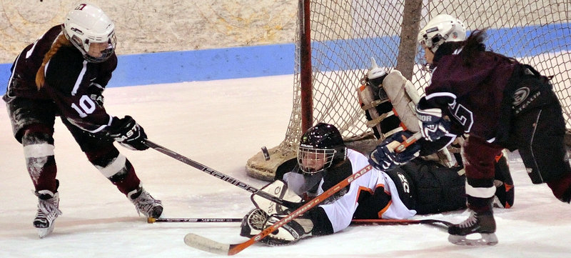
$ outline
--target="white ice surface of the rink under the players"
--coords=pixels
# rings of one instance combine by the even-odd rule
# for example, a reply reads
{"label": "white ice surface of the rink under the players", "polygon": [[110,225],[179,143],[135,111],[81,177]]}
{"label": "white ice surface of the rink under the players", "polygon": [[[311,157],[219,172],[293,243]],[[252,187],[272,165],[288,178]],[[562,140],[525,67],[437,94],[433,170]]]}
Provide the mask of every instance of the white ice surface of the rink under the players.
{"label": "white ice surface of the rink under the players", "polygon": [[[262,187],[266,182],[246,176],[246,160],[285,137],[292,85],[288,75],[121,87],[107,89],[105,101],[110,114],[133,116],[153,142]],[[89,164],[61,121],[54,138],[64,214],[54,232],[39,239],[32,226],[36,197],[4,105],[0,121],[0,257],[220,257],[186,246],[183,237],[192,232],[228,244],[246,241],[235,222],[147,224]],[[243,217],[253,208],[248,192],[171,157],[118,148],[148,192],[163,201],[165,217]],[[496,246],[455,246],[427,225],[369,225],[285,247],[254,244],[236,257],[570,257],[571,207],[545,184],[532,185],[517,154],[510,154],[510,165],[515,205],[495,211]],[[467,216],[458,211],[415,219],[461,222]]]}

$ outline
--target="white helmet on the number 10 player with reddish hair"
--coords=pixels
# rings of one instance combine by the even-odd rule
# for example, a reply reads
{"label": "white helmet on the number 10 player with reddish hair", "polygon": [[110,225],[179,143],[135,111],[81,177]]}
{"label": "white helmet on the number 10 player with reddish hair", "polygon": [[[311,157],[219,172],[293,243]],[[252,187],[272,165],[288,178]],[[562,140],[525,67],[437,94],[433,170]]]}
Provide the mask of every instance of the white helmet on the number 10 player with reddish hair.
{"label": "white helmet on the number 10 player with reddish hair", "polygon": [[[115,51],[115,24],[93,4],[79,4],[66,15],[62,31],[71,44],[81,51],[87,61],[98,63],[105,61]],[[101,56],[88,54],[91,43],[107,43]]]}

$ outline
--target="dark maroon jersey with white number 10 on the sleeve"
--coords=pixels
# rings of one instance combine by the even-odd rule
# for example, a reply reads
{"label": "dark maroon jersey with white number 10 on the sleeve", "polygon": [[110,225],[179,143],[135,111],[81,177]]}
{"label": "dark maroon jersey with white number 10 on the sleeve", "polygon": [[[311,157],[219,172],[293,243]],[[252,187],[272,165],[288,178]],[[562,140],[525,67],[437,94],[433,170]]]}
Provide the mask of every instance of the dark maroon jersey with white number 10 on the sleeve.
{"label": "dark maroon jersey with white number 10 on the sleeve", "polygon": [[61,46],[45,66],[46,82],[38,90],[36,72],[61,33],[61,25],[49,29],[26,46],[12,66],[7,95],[28,99],[51,99],[59,115],[88,132],[103,131],[112,117],[103,107],[103,89],[117,66],[113,54],[101,63],[89,63],[74,46]]}

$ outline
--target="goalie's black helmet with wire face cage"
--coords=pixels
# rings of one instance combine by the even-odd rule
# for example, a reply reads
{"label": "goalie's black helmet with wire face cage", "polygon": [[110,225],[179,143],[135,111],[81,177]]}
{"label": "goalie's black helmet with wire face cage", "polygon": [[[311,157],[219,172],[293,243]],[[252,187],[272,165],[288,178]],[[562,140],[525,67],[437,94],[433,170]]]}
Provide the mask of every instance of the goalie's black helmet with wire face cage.
{"label": "goalie's black helmet with wire face cage", "polygon": [[345,143],[335,126],[319,123],[300,139],[298,164],[305,174],[316,174],[345,160]]}

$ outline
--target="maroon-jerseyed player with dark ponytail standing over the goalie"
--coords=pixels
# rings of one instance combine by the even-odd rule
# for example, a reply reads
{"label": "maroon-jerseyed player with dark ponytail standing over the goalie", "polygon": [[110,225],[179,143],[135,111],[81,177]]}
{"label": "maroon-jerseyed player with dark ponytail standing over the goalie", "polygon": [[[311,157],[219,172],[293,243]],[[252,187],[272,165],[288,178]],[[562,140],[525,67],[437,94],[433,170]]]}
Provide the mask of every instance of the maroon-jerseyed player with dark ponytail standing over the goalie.
{"label": "maroon-jerseyed player with dark ponytail standing over the goalie", "polygon": [[[449,229],[454,244],[497,244],[491,203],[495,157],[518,149],[534,184],[547,183],[562,202],[571,200],[565,121],[548,77],[531,66],[485,49],[485,31],[466,39],[462,21],[435,16],[418,42],[432,69],[417,114],[428,141],[469,134],[463,144],[466,194],[472,214]],[[480,233],[481,239],[466,236]]]}

